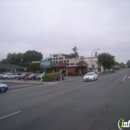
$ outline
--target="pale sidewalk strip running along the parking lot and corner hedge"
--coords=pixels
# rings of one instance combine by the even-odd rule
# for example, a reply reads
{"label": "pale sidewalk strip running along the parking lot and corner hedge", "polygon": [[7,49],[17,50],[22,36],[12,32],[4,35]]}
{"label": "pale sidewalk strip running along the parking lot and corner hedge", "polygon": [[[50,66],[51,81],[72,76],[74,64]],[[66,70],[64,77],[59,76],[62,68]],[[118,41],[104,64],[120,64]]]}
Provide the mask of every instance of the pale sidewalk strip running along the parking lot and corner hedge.
{"label": "pale sidewalk strip running along the parking lot and corner hedge", "polygon": [[74,79],[76,79],[77,77],[80,76],[65,76],[64,80],[61,81],[55,81],[55,82],[41,82],[40,80],[16,80],[16,79],[0,79],[0,82],[11,82],[11,83],[28,83],[28,84],[55,84],[55,83],[61,83],[61,82],[69,82],[72,81]]}

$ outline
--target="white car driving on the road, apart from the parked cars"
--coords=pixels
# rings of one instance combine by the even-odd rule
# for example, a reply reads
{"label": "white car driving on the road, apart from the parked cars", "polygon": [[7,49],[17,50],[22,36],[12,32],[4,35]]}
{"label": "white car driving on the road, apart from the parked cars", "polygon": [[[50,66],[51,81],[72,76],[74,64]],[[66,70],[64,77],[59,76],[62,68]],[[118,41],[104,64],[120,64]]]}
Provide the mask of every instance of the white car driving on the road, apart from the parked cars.
{"label": "white car driving on the road, apart from the parked cars", "polygon": [[95,72],[88,72],[84,77],[84,82],[85,81],[94,81],[94,80],[98,80],[98,74],[96,74]]}

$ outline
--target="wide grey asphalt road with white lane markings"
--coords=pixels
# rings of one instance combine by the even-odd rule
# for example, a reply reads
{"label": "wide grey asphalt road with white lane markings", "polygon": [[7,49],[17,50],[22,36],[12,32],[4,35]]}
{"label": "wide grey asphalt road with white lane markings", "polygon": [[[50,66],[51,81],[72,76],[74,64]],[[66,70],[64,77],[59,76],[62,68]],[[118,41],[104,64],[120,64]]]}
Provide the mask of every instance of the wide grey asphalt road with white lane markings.
{"label": "wide grey asphalt road with white lane markings", "polygon": [[8,84],[0,93],[0,130],[118,130],[120,118],[130,120],[129,70],[94,82]]}

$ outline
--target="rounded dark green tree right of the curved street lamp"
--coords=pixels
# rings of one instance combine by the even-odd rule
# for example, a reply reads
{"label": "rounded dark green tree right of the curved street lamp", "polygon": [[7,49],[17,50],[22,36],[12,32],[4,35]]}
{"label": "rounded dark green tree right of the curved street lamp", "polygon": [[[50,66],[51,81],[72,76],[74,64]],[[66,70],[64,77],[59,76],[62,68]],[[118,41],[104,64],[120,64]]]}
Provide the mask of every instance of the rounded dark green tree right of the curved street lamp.
{"label": "rounded dark green tree right of the curved street lamp", "polygon": [[115,65],[115,57],[109,53],[102,53],[98,55],[98,62],[103,66],[104,72],[105,69],[111,69]]}

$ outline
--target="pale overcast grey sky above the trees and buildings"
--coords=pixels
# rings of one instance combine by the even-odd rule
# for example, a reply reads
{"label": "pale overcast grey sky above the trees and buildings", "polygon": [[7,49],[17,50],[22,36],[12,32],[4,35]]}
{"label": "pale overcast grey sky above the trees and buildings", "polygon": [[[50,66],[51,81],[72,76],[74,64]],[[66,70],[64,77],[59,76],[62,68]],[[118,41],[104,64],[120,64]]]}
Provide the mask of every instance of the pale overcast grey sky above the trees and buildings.
{"label": "pale overcast grey sky above the trees and buildings", "polygon": [[130,60],[130,0],[0,0],[0,60],[28,50],[70,54],[75,46],[80,56]]}

